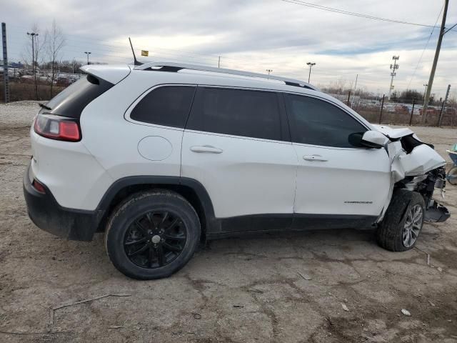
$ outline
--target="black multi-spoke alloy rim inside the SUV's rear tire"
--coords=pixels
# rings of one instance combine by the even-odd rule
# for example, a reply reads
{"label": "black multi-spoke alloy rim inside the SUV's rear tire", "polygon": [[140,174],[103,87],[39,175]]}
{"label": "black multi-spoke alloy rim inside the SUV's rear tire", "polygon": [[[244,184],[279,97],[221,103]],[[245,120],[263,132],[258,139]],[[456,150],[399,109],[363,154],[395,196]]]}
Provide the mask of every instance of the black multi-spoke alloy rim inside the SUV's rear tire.
{"label": "black multi-spoke alloy rim inside the SUV's rear tire", "polygon": [[163,210],[140,214],[124,236],[124,251],[139,267],[154,269],[173,262],[186,246],[187,229],[181,217]]}

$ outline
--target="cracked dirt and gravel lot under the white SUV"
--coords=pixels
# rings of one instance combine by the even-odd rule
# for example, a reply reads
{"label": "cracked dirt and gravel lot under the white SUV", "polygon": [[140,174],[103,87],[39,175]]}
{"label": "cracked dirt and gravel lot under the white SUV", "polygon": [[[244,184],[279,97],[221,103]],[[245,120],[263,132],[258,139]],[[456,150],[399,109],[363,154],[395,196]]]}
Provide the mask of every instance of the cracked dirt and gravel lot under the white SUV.
{"label": "cracked dirt and gravel lot under the white SUV", "polygon": [[[349,229],[225,239],[138,282],[110,264],[101,234],[67,242],[27,217],[37,109],[0,105],[0,342],[457,342],[456,187],[453,217],[426,224],[419,249],[387,252]],[[457,141],[456,129],[413,129],[443,156]],[[50,324],[51,307],[105,294],[130,295],[58,309]]]}

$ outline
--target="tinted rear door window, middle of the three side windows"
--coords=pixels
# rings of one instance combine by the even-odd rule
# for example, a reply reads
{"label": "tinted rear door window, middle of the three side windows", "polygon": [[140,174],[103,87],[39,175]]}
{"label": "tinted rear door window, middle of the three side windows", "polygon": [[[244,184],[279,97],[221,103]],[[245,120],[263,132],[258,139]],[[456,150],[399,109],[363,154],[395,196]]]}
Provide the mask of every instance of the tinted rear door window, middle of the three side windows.
{"label": "tinted rear door window, middle of the three side windows", "polygon": [[269,91],[199,87],[187,129],[281,140],[278,96]]}

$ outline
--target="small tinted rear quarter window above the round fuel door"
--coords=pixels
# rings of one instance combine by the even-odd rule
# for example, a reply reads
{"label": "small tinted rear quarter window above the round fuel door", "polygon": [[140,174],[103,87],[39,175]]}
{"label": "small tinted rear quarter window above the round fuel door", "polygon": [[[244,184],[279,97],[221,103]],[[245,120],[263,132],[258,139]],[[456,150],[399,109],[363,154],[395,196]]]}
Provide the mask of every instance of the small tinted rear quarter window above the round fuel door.
{"label": "small tinted rear quarter window above the round fuel door", "polygon": [[194,99],[195,86],[163,86],[144,96],[130,118],[156,125],[184,128]]}

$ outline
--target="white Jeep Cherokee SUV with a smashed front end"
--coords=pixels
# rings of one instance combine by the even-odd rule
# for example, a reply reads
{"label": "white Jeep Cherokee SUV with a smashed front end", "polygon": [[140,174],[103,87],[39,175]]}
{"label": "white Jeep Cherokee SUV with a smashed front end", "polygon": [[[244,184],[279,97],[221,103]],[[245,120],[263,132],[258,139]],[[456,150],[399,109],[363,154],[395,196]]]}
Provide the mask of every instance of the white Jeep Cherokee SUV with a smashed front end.
{"label": "white Jeep Cherokee SUV with a smashed front end", "polygon": [[303,81],[174,63],[84,66],[31,128],[24,176],[41,229],[105,232],[129,277],[167,277],[199,242],[242,232],[376,228],[411,249],[445,161]]}

